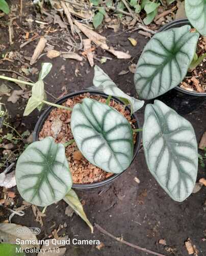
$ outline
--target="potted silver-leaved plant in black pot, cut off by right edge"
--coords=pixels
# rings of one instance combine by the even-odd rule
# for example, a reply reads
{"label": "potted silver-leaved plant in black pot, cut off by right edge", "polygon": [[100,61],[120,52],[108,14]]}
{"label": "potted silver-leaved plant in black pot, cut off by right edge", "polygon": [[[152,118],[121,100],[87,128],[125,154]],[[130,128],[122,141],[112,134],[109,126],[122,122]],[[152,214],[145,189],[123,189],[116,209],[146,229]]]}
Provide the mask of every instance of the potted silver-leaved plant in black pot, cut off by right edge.
{"label": "potted silver-leaved plant in black pot, cut off by right edge", "polygon": [[[189,21],[175,20],[151,38],[139,58],[135,74],[140,98],[158,97],[181,114],[197,108],[206,96],[203,80],[205,62],[202,61],[206,57],[203,48],[203,36],[206,35],[203,20],[206,14],[202,11],[206,4],[204,1],[198,2],[199,5],[191,0],[186,1]],[[198,22],[195,21],[197,18]],[[191,30],[191,24],[199,31],[200,37],[194,29]],[[199,45],[203,45],[203,49]],[[144,74],[145,68],[147,74]]]}

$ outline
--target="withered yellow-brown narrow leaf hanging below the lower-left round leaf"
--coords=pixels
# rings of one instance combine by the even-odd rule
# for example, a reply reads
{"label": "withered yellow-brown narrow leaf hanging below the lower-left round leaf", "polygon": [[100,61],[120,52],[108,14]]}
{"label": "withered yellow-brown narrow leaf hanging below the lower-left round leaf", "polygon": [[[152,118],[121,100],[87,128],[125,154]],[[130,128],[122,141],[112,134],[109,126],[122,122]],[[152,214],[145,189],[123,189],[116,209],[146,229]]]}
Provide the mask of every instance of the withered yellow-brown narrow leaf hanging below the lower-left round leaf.
{"label": "withered yellow-brown narrow leaf hanging below the lower-left round leaf", "polygon": [[87,216],[84,212],[83,206],[78,198],[78,195],[76,195],[75,191],[73,189],[70,189],[69,192],[64,197],[64,201],[70,205],[70,207],[78,214],[90,227],[91,232],[93,233],[93,226],[90,223],[90,221],[87,219]]}

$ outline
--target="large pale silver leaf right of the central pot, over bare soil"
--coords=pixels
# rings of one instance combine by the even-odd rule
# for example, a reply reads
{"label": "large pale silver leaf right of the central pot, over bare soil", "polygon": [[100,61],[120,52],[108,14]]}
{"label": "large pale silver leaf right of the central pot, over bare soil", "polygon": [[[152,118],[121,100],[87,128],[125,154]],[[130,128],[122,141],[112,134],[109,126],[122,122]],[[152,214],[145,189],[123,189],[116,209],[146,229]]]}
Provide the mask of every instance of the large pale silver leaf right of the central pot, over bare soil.
{"label": "large pale silver leaf right of the central pot, over bare soil", "polygon": [[159,100],[147,104],[143,147],[150,173],[175,201],[193,191],[198,166],[197,141],[189,121]]}

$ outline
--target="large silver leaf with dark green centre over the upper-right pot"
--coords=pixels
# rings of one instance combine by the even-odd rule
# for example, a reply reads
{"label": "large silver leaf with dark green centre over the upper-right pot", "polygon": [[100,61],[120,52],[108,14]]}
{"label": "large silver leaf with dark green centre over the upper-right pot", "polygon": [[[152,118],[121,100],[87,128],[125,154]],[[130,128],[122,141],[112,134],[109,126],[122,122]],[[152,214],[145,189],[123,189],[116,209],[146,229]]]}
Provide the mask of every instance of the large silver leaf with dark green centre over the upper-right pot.
{"label": "large silver leaf with dark green centre over the upper-right pot", "polygon": [[186,76],[196,51],[198,33],[190,26],[155,34],[137,63],[135,87],[143,99],[156,98],[176,87]]}

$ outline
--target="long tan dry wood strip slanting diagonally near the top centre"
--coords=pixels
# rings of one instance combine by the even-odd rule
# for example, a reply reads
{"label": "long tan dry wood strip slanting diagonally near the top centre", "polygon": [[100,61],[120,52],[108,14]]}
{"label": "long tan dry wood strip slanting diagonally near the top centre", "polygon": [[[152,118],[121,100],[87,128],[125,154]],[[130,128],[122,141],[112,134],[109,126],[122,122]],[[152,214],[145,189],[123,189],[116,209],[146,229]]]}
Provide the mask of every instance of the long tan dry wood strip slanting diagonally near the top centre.
{"label": "long tan dry wood strip slanting diagonally near the top centre", "polygon": [[74,24],[97,46],[100,46],[104,50],[108,50],[109,47],[106,44],[107,38],[105,36],[101,36],[100,34],[96,33],[95,31],[87,28],[86,26],[79,23],[77,20],[74,20]]}

